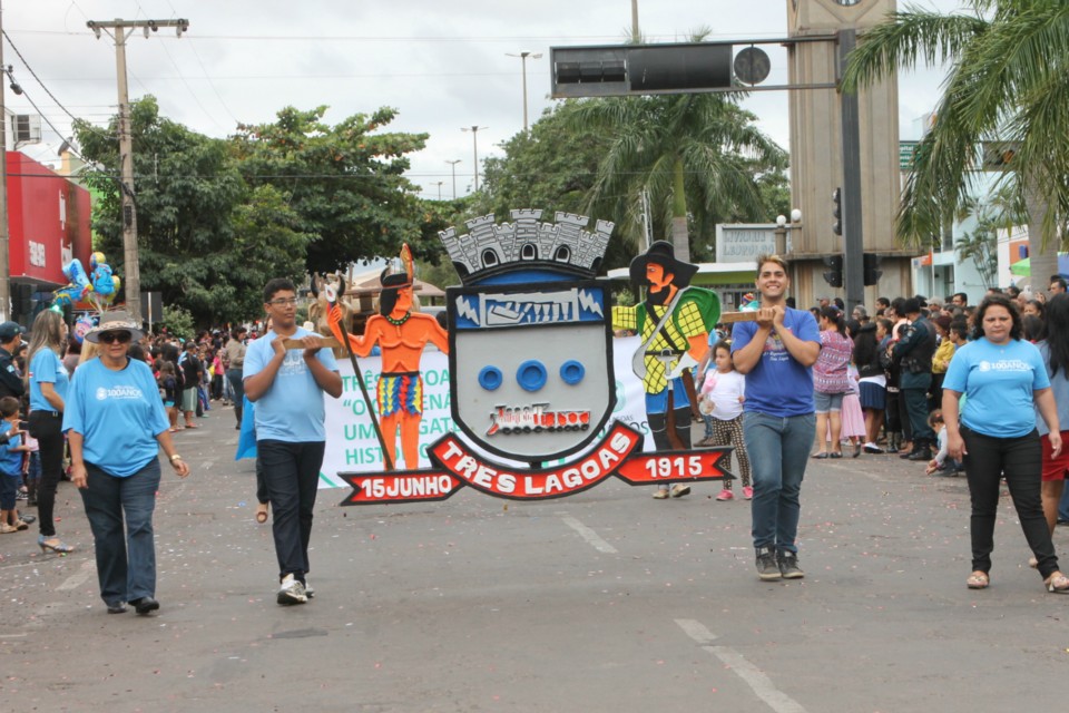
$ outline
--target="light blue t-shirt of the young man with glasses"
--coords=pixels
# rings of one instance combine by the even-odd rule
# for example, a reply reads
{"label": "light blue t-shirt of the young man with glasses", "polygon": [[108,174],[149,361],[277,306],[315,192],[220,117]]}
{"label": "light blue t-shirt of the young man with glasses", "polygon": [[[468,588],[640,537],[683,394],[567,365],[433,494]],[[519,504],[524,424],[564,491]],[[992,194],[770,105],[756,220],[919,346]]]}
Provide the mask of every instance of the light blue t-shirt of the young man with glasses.
{"label": "light blue t-shirt of the young man with glasses", "polygon": [[[301,339],[306,334],[315,332],[298,326],[290,339]],[[276,336],[277,334],[271,331],[248,345],[248,351],[245,352],[245,370],[242,372],[244,381],[263,371],[274,358],[275,351],[271,348],[271,342]],[[316,359],[327,371],[337,371],[331,350],[321,349]],[[323,390],[315,383],[308,365],[304,363],[304,350],[286,351],[286,359],[278,368],[271,388],[256,400],[256,440],[294,443],[325,441],[324,418],[326,408],[323,403]]]}

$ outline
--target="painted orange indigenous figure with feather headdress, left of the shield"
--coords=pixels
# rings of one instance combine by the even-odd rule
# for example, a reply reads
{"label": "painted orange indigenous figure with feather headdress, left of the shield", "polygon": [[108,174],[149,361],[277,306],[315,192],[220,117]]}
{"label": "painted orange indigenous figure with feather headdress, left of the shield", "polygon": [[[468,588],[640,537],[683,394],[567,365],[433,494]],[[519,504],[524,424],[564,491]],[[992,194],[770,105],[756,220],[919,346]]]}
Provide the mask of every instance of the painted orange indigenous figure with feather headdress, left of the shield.
{"label": "painted orange indigenous figure with feather headdress, left of the shield", "polygon": [[[433,316],[412,311],[414,270],[408,245],[401,247],[403,270],[382,272],[382,293],[379,314],[367,320],[364,333],[349,335],[349,343],[357,356],[367,356],[377,344],[382,352],[382,373],[379,375],[376,407],[380,427],[389,459],[383,465],[396,463],[398,430],[401,431],[401,453],[405,468],[420,467],[420,422],[423,420],[423,377],[420,360],[428,342],[449,353],[449,338]],[[330,311],[331,332],[344,343],[339,321],[342,311],[336,304]],[[360,378],[360,374],[356,374]]]}

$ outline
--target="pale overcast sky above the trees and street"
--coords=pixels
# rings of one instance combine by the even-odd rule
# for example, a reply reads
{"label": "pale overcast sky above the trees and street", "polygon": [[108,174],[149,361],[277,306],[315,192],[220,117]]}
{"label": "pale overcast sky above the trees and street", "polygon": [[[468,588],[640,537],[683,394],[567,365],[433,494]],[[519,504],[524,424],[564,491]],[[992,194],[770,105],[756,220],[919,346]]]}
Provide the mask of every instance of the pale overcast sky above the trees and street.
{"label": "pale overcast sky above the trees and street", "polygon": [[[901,3],[900,3],[901,4]],[[951,10],[959,0],[920,0]],[[612,45],[630,31],[630,0],[0,0],[3,29],[26,58],[4,42],[3,64],[12,65],[24,96],[9,89],[17,113],[36,113],[32,99],[65,137],[70,117],[104,125],[116,113],[115,47],[96,39],[87,20],[185,18],[179,39],[160,29],[149,39],[129,38],[130,97],[157,97],[161,111],[209,136],[225,137],[238,123],[273,120],[287,105],[331,107],[330,123],[381,106],[400,111],[388,130],[430,134],[426,148],[411,157],[410,178],[424,197],[452,195],[449,160],[457,165],[457,192],[472,184],[471,133],[479,126],[480,160],[500,155],[496,146],[522,130],[522,75],[528,59],[529,117],[551,104],[549,48]],[[712,39],[785,37],[787,0],[639,0],[647,41],[685,41],[707,27]],[[771,52],[767,82],[784,82],[783,55]],[[35,80],[29,68],[40,77]],[[915,138],[914,123],[932,109],[941,75],[900,78],[903,138]],[[7,88],[6,88],[7,89]],[[784,92],[754,94],[746,106],[761,126],[788,145]],[[47,126],[46,146],[24,148],[39,160],[55,160],[59,143]],[[442,182],[442,185],[437,185]]]}

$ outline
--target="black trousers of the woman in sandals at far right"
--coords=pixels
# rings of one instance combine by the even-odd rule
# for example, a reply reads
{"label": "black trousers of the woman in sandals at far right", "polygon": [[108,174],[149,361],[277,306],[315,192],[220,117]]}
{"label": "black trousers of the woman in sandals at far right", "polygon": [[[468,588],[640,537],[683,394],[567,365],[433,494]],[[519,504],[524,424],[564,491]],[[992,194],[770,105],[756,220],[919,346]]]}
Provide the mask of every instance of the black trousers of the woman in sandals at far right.
{"label": "black trousers of the woman in sandals at far right", "polygon": [[1058,557],[1039,495],[1042,482],[1039,432],[1032,430],[1020,438],[996,438],[962,426],[961,436],[965,441],[964,463],[972,499],[972,568],[980,572],[991,569],[999,481],[1004,475],[1024,538],[1039,560],[1039,574],[1046,579],[1058,570]]}

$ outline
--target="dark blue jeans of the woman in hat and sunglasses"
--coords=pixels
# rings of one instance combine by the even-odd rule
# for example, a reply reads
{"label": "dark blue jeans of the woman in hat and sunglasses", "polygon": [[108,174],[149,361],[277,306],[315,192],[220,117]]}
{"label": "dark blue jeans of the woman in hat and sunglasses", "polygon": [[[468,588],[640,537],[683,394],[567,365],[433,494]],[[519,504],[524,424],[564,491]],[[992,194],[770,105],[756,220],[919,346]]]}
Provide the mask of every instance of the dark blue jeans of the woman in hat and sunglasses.
{"label": "dark blue jeans of the woman in hat and sunglasses", "polygon": [[155,597],[153,511],[159,489],[159,460],[153,458],[127,478],[116,478],[91,463],[86,463],[86,471],[87,487],[80,492],[97,550],[100,598],[118,604]]}

